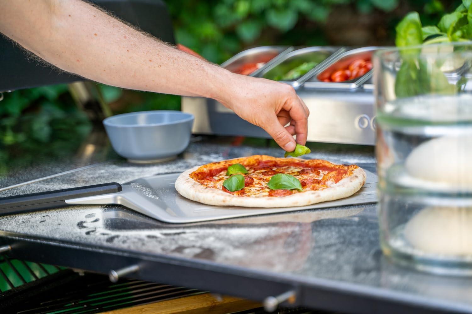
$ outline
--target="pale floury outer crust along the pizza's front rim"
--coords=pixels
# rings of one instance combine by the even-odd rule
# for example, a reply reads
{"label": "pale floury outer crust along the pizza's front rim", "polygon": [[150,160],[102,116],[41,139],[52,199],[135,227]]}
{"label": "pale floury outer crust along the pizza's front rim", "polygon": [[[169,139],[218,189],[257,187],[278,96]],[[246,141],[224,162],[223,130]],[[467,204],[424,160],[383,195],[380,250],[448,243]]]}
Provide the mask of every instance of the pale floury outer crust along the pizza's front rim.
{"label": "pale floury outer crust along the pizza's front rim", "polygon": [[188,169],[177,177],[175,188],[182,196],[204,204],[216,206],[242,207],[298,207],[323,201],[342,199],[359,191],[365,183],[365,172],[362,168],[353,170],[352,176],[345,177],[334,185],[320,191],[305,191],[288,196],[254,196],[240,197],[219,189],[202,185],[190,177],[200,166]]}

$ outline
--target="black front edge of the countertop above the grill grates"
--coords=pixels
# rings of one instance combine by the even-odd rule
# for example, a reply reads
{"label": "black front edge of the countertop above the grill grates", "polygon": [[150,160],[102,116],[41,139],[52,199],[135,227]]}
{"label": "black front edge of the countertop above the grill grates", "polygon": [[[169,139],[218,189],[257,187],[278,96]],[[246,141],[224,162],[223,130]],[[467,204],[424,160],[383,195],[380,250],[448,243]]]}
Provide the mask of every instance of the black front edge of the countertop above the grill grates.
{"label": "black front edge of the countertop above the grill grates", "polygon": [[306,282],[290,275],[274,275],[262,271],[248,271],[238,267],[221,266],[206,261],[164,257],[121,250],[103,249],[63,242],[22,238],[11,233],[0,236],[0,245],[10,245],[11,258],[74,267],[107,274],[110,269],[138,265],[139,270],[130,277],[152,282],[192,287],[235,297],[262,301],[288,290],[296,291],[293,304],[345,313],[465,313],[467,310],[453,304],[428,301],[413,302],[400,295],[379,290],[365,290],[353,284],[339,285],[328,280]]}

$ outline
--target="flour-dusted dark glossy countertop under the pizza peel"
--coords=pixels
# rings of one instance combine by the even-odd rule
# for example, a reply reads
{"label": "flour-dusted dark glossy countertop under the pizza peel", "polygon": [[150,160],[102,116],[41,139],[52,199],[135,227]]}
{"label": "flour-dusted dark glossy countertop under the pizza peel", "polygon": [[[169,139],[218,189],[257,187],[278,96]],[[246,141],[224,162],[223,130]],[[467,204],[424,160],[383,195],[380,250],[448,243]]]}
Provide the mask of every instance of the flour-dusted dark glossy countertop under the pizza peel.
{"label": "flour-dusted dark glossy countertop under the pizza peel", "polygon": [[[210,161],[251,154],[281,155],[278,148],[193,143],[177,160],[155,165],[108,161],[88,169],[7,189],[1,196],[126,181],[179,172]],[[313,151],[308,158],[357,163],[375,171],[370,149]],[[31,178],[35,177],[34,171]],[[381,253],[376,205],[356,205],[285,214],[171,225],[120,206],[74,206],[0,217],[0,235],[54,240],[160,257],[208,261],[262,271],[302,282],[329,280],[355,285],[373,297],[402,299],[472,313],[472,281],[440,277],[393,265]],[[67,265],[66,265],[67,266]]]}

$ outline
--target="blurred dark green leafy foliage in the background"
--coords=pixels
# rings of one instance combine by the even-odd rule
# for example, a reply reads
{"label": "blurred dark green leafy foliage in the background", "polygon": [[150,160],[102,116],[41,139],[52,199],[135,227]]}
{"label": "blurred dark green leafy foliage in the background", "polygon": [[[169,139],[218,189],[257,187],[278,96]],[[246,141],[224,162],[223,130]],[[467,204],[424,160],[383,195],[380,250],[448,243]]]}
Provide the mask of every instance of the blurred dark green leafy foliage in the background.
{"label": "blurred dark green leafy foliage in the background", "polygon": [[[437,24],[461,1],[446,0],[165,0],[176,40],[220,64],[261,45],[393,45],[395,26],[409,11]],[[180,97],[97,85],[113,114],[178,110]],[[18,156],[74,151],[93,129],[67,85],[18,90],[0,102],[0,176]],[[43,145],[51,147],[43,152]],[[24,152],[28,152],[24,157]],[[24,160],[22,161],[25,162]]]}

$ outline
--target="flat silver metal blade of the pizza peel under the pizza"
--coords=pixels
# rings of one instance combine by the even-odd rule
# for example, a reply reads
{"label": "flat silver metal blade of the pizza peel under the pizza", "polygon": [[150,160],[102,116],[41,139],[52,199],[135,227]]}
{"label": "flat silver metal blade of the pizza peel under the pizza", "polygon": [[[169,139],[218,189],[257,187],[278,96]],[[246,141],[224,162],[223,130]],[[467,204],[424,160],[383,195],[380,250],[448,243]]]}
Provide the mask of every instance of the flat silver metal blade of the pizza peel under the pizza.
{"label": "flat silver metal blade of the pizza peel under the pizza", "polygon": [[[174,183],[180,173],[137,179],[130,185],[127,185],[126,187],[123,186],[123,192],[125,192],[123,195],[124,199],[120,201],[120,203],[130,204],[130,207],[133,207],[132,203],[136,202],[139,202],[140,204],[148,204],[148,216],[174,224],[289,212],[303,209],[319,209],[374,203],[377,201],[375,188],[377,176],[370,171],[365,170],[365,172],[367,174],[366,182],[358,192],[354,193],[354,195],[337,201],[327,201],[303,207],[253,209],[247,207],[212,206],[191,201],[181,196],[174,187]],[[125,188],[134,191],[126,191]],[[133,194],[133,198],[126,200],[126,194],[131,193]]]}

